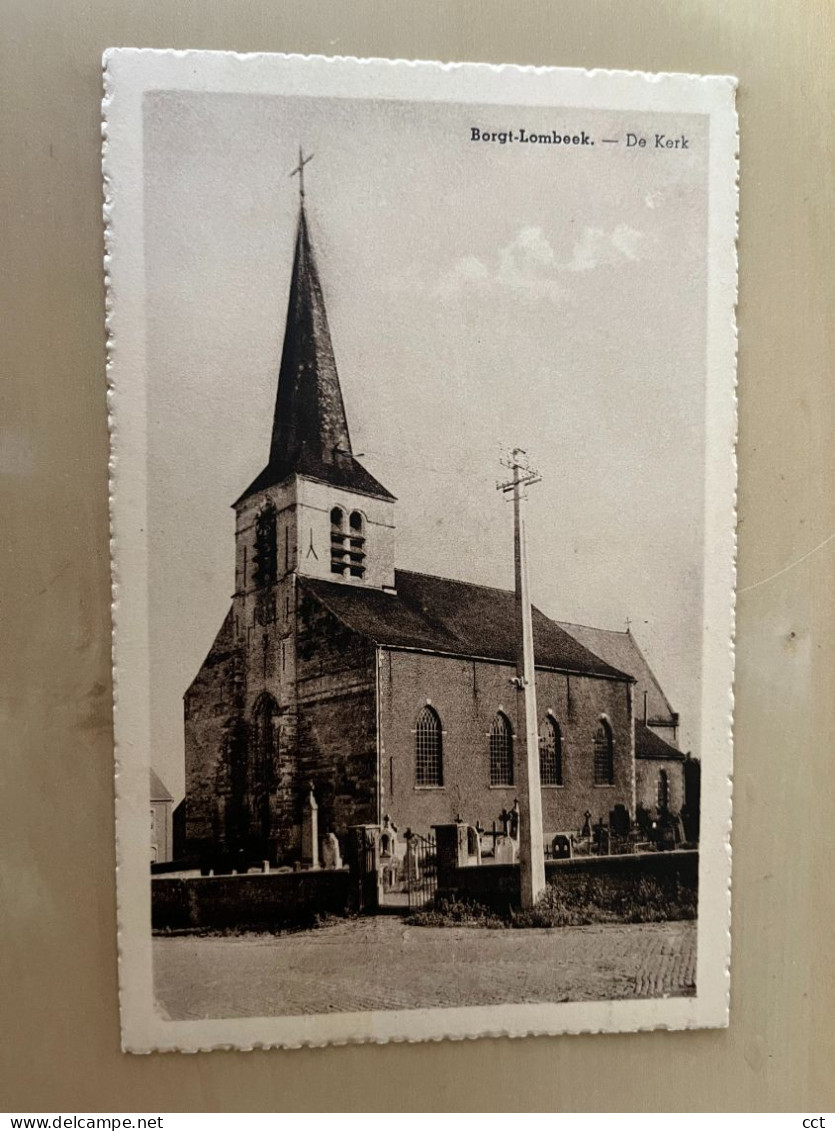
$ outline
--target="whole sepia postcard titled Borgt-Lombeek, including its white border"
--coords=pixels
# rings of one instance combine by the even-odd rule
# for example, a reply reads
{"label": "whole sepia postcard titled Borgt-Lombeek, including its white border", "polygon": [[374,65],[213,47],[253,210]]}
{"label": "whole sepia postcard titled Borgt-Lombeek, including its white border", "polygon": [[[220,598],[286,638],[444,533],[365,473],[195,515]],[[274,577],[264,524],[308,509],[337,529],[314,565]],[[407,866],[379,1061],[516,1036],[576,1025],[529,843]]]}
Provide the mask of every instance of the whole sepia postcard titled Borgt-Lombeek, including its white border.
{"label": "whole sepia postcard titled Borgt-Lombeek, including its white border", "polygon": [[126,1050],[726,1025],[735,81],[104,86]]}

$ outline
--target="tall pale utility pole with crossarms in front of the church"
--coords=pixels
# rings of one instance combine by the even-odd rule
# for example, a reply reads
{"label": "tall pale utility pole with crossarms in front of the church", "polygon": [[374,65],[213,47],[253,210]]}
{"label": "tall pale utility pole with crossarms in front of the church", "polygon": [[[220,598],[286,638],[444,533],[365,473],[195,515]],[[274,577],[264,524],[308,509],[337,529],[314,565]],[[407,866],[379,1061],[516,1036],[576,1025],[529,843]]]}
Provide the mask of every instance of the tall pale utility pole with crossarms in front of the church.
{"label": "tall pale utility pole with crossarms in front of the church", "polygon": [[534,666],[533,622],[527,581],[527,552],[523,502],[525,487],[542,476],[527,463],[522,448],[514,448],[502,466],[513,478],[496,486],[514,500],[514,560],[516,566],[516,751],[519,791],[519,872],[522,907],[530,910],[545,890],[545,853],[542,844],[542,787],[540,785],[540,735],[536,714],[536,670]]}

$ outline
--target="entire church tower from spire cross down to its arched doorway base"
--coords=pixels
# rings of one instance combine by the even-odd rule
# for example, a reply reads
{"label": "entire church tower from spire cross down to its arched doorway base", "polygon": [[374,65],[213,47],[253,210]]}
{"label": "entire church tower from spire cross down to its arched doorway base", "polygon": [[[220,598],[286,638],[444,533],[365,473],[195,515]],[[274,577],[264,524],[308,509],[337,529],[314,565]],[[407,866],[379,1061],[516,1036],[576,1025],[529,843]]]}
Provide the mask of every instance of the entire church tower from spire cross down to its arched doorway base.
{"label": "entire church tower from spire cross down to its arched doorway base", "polygon": [[[299,221],[269,458],[234,503],[233,631],[243,657],[248,780],[270,855],[300,835],[295,780],[299,577],[391,590],[394,495],[351,446],[304,208]],[[258,749],[255,749],[255,746]],[[264,749],[261,749],[261,746]],[[251,791],[249,791],[251,792]]]}

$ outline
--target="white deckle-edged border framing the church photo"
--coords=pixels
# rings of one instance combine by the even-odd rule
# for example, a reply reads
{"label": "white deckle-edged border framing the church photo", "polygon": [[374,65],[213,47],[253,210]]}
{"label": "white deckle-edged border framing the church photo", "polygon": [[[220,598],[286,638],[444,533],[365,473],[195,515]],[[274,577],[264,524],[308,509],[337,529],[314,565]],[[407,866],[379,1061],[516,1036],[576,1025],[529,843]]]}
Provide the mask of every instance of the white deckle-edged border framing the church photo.
{"label": "white deckle-edged border framing the church photo", "polygon": [[[111,552],[122,1046],[200,1051],[350,1042],[685,1029],[728,1025],[733,588],[735,580],[735,79],[476,63],[113,49],[104,57],[103,170],[111,425]],[[145,851],[149,770],[144,438],[143,96],[148,90],[403,98],[709,116],[704,746],[697,994],[170,1021],[154,1005]]]}

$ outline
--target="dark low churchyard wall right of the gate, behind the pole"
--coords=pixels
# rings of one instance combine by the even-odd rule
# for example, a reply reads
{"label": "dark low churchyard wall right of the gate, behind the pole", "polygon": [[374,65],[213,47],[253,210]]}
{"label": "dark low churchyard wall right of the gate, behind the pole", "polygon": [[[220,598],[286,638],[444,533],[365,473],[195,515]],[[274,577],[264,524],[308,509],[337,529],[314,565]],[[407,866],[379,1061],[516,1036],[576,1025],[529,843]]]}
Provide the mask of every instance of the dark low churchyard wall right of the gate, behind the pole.
{"label": "dark low churchyard wall right of the gate, behind the pole", "polygon": [[[571,860],[545,861],[545,882],[562,891],[596,880],[606,888],[635,883],[647,878],[664,888],[698,887],[699,854],[688,852],[635,853],[623,856],[575,856]],[[499,914],[519,906],[520,881],[518,864],[481,864],[468,867],[441,869],[438,897],[467,899]]]}

